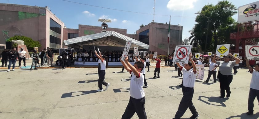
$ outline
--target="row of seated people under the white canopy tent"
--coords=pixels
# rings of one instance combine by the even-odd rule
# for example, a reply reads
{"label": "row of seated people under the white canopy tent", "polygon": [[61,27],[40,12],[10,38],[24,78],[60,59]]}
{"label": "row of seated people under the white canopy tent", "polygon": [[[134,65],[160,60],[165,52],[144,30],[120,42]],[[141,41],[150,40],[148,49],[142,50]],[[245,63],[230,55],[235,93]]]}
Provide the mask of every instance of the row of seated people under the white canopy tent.
{"label": "row of seated people under the white canopy tent", "polygon": [[[120,61],[120,57],[122,56],[122,52],[108,52],[108,51],[104,51],[102,52],[102,55],[106,55],[109,59],[109,62],[119,62]],[[129,53],[128,54],[129,57],[129,61],[134,61],[133,59],[133,53]],[[98,61],[98,57],[96,56],[96,54],[90,50],[88,51],[79,51],[77,53],[77,61]]]}

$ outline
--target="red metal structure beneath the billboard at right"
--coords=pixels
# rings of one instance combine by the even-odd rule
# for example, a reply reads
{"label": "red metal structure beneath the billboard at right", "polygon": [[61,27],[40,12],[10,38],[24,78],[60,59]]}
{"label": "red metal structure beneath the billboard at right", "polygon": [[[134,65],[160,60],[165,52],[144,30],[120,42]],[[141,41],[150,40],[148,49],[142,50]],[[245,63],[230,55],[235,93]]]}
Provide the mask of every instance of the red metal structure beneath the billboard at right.
{"label": "red metal structure beneath the billboard at right", "polygon": [[[233,40],[236,46],[233,53],[239,53],[244,57],[245,46],[257,44],[254,38],[259,38],[259,21],[238,24],[237,32],[230,33],[230,40]],[[242,47],[242,50],[239,50],[239,46]]]}

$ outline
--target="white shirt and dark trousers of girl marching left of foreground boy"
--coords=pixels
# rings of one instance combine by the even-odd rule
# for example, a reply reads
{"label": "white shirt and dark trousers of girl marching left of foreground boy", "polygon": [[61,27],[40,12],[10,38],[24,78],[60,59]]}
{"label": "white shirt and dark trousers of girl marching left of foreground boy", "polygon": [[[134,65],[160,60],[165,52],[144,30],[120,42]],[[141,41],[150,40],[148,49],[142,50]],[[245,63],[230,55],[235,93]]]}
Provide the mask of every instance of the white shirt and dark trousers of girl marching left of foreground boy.
{"label": "white shirt and dark trousers of girl marching left of foreground boy", "polygon": [[107,86],[108,83],[106,83],[103,79],[104,79],[104,76],[105,76],[105,68],[106,68],[106,61],[103,60],[101,61],[101,66],[100,66],[100,71],[98,73],[98,76],[99,76],[99,79],[98,79],[98,87],[100,90],[102,90],[102,85],[105,85]]}

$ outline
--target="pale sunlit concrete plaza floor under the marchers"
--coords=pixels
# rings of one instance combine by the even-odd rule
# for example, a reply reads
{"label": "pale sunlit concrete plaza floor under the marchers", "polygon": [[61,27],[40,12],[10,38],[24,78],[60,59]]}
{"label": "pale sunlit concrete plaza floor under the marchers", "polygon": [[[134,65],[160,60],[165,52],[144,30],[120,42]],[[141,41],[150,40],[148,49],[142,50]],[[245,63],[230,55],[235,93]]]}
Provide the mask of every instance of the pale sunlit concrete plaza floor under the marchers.
{"label": "pale sunlit concrete plaza floor under the marchers", "polygon": [[[30,63],[27,63],[27,66]],[[146,68],[147,69],[147,68]],[[208,67],[205,67],[205,77]],[[0,69],[1,119],[119,119],[129,102],[130,74],[122,68],[108,68],[106,82],[110,87],[98,89],[97,68],[66,69]],[[149,119],[173,118],[182,98],[182,77],[174,67],[162,67],[160,78],[153,78],[154,68],[146,72],[145,111]],[[197,79],[193,104],[199,119],[257,119],[258,101],[254,101],[254,115],[246,115],[251,74],[238,69],[230,84],[231,96],[221,99],[219,82]],[[204,79],[205,80],[205,79]],[[103,86],[105,88],[105,86]],[[182,119],[192,114],[187,109]],[[132,118],[138,118],[137,114]]]}

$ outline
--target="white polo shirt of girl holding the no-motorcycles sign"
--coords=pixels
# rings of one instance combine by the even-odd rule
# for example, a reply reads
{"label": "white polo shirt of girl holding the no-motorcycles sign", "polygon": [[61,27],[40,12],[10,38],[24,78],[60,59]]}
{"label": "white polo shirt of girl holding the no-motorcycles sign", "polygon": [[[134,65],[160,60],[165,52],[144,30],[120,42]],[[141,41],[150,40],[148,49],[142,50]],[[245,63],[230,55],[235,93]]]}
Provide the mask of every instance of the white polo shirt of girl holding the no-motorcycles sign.
{"label": "white polo shirt of girl holding the no-motorcycles sign", "polygon": [[183,73],[183,86],[193,88],[196,80],[197,71],[193,72],[193,69],[187,71],[184,67],[181,67]]}

